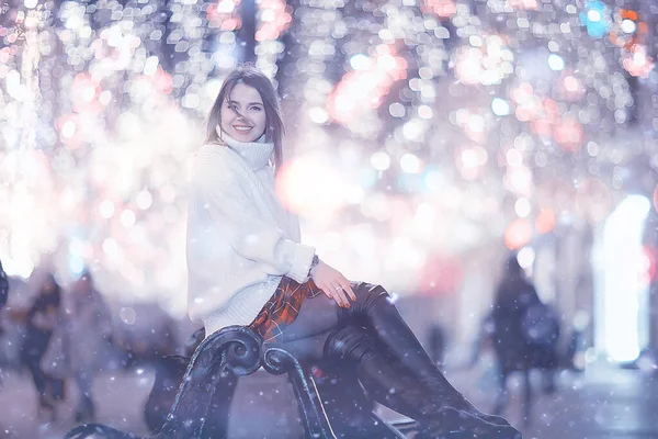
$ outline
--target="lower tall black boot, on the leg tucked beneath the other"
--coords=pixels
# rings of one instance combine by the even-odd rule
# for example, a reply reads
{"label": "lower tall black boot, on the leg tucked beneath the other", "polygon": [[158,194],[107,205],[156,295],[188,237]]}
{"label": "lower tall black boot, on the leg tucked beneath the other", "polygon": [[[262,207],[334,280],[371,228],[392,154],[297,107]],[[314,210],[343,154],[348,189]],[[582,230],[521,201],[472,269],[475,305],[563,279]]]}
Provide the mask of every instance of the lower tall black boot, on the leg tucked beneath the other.
{"label": "lower tall black boot, on the leg tucked beneath the other", "polygon": [[426,438],[460,434],[487,439],[515,439],[521,436],[509,425],[494,425],[466,412],[435,404],[421,382],[399,362],[390,361],[384,347],[367,328],[343,326],[325,345],[326,358],[340,358],[356,364],[359,379],[378,403],[421,424]]}

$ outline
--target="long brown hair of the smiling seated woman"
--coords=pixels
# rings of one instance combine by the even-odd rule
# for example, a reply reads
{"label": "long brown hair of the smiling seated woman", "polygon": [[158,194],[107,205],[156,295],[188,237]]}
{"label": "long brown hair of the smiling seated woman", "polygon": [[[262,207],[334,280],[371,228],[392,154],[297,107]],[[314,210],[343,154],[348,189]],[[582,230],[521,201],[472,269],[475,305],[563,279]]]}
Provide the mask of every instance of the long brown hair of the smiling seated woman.
{"label": "long brown hair of the smiling seated woman", "polygon": [[274,171],[279,171],[283,162],[283,135],[285,126],[281,115],[281,106],[272,81],[261,70],[250,64],[245,64],[231,71],[222,88],[208,114],[206,126],[206,143],[222,143],[216,127],[222,121],[222,104],[237,83],[253,87],[263,100],[265,109],[265,138],[274,144]]}

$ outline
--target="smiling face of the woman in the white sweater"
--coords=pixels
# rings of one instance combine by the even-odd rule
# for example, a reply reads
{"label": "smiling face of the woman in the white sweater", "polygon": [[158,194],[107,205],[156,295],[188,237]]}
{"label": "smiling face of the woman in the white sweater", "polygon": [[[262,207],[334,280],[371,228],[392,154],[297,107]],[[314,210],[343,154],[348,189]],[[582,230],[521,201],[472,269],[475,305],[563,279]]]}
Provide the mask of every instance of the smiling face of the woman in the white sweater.
{"label": "smiling face of the woman in the white sweater", "polygon": [[254,142],[265,132],[265,108],[253,87],[237,83],[222,104],[222,130],[239,142]]}

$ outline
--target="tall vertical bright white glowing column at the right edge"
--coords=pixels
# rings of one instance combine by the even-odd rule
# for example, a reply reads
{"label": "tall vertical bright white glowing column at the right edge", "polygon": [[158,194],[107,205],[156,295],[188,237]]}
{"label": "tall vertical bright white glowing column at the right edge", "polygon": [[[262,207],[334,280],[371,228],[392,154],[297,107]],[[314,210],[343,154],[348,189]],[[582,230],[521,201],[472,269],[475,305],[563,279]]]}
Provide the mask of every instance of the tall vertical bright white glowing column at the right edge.
{"label": "tall vertical bright white glowing column at the right edge", "polygon": [[603,333],[599,340],[615,361],[635,360],[646,344],[640,311],[646,312],[647,288],[638,283],[638,270],[650,207],[646,198],[631,195],[604,226]]}

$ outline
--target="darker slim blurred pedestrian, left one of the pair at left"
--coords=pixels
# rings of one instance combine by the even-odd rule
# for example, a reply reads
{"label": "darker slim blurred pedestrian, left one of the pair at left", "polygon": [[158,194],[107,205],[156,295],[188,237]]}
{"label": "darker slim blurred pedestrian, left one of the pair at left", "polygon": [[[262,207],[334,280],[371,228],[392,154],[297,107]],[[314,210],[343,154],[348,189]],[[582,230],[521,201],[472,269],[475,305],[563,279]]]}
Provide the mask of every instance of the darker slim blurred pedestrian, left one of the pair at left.
{"label": "darker slim blurred pedestrian, left one of the pair at left", "polygon": [[47,397],[47,376],[42,359],[48,349],[53,333],[60,322],[61,289],[52,273],[46,273],[25,319],[25,337],[21,346],[21,361],[32,374],[38,393],[38,410],[54,413],[53,402]]}

